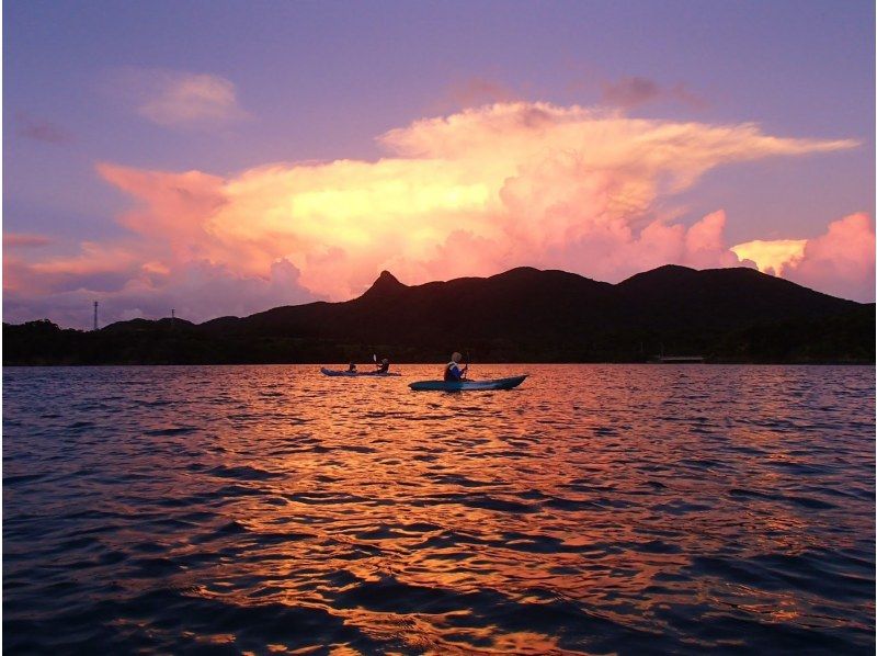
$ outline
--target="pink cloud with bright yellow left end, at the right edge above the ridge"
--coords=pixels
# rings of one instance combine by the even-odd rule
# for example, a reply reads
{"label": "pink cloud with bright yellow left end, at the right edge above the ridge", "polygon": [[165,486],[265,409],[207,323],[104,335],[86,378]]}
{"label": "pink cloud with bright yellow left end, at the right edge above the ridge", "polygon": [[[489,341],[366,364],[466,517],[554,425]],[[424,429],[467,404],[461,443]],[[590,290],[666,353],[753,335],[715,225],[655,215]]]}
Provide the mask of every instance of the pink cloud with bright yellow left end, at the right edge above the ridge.
{"label": "pink cloud with bright yellow left end, at the right edge above the ridge", "polygon": [[864,302],[874,301],[874,227],[864,213],[830,223],[823,235],[812,239],[756,240],[732,248],[761,271]]}

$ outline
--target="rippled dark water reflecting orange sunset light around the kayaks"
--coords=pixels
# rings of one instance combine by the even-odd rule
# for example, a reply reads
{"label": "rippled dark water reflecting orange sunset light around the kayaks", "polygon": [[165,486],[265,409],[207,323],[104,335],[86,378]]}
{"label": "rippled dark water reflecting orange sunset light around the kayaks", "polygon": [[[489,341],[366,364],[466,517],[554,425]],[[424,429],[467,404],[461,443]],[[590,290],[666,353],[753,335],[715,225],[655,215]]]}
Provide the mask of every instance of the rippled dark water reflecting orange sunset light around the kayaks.
{"label": "rippled dark water reflecting orange sunset light around the kayaks", "polygon": [[3,370],[10,653],[874,653],[873,367]]}

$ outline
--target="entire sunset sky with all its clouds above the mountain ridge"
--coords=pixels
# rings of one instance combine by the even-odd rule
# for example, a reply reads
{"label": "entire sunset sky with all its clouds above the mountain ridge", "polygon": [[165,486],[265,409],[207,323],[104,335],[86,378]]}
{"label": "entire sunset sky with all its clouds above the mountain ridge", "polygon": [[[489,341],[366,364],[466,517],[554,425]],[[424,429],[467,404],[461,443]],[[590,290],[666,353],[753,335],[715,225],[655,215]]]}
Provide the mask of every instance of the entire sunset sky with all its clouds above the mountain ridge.
{"label": "entire sunset sky with all its clouds above the mountain ridge", "polygon": [[875,298],[866,0],[3,2],[3,320],[667,263]]}

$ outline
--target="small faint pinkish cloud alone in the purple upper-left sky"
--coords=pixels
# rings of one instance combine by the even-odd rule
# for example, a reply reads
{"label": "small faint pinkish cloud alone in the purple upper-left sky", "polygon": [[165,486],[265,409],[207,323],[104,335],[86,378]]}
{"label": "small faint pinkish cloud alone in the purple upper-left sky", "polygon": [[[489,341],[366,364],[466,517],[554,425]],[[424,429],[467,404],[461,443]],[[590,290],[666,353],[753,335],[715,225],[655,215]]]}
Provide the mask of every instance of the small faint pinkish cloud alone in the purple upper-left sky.
{"label": "small faint pinkish cloud alone in the purple upper-left sky", "polygon": [[249,116],[235,84],[217,75],[125,68],[111,86],[140,116],[166,127],[210,128]]}

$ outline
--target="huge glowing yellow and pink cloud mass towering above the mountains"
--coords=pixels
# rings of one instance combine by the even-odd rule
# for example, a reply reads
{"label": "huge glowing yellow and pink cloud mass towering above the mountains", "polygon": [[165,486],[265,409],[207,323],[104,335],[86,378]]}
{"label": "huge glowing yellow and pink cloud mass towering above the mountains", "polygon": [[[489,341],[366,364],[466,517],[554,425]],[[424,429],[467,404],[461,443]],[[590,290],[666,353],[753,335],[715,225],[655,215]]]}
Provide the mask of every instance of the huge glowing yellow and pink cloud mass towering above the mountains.
{"label": "huge glowing yellow and pink cloud mass towering above the mountains", "polygon": [[[725,244],[722,211],[685,226],[665,201],[721,165],[855,145],[777,138],[752,124],[648,121],[526,102],[417,121],[379,140],[387,157],[377,161],[273,165],[229,178],[100,165],[107,182],[136,200],[118,218],[130,238],[100,247],[125,282],[113,290],[83,282],[76,291],[111,295],[119,312],[133,312],[204,289],[209,303],[190,304],[191,316],[203,319],[309,297],[349,298],[381,269],[419,283],[519,264],[607,281],[671,262],[761,265],[768,248]],[[794,271],[845,296],[873,295],[869,230],[868,217],[847,217],[802,252],[779,257],[785,269],[773,260],[762,268]],[[869,255],[856,250],[856,265],[841,264],[848,242],[863,238],[870,239]],[[69,294],[76,276],[87,275],[76,259],[12,260],[15,298]]]}

